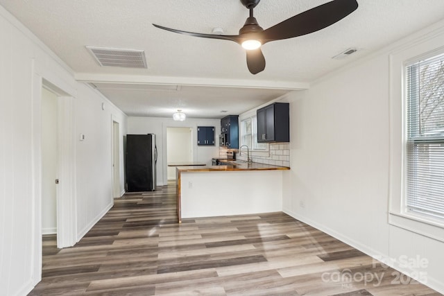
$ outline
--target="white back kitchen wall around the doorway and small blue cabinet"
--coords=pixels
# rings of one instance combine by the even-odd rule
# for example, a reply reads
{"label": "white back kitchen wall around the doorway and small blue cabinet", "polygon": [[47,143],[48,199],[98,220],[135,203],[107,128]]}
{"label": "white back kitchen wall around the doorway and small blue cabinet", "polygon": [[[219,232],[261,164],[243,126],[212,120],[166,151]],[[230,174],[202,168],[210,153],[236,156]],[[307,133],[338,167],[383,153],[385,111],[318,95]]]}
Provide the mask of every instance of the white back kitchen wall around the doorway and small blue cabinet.
{"label": "white back kitchen wall around the doorway and small blue cabinet", "polygon": [[[214,126],[216,144],[214,146],[197,146],[197,127]],[[167,128],[191,128],[193,132],[193,161],[211,165],[212,157],[219,157],[220,119],[187,119],[173,121],[169,118],[155,117],[128,117],[128,134],[155,134],[157,144],[157,185],[166,185],[168,182],[167,170]]]}

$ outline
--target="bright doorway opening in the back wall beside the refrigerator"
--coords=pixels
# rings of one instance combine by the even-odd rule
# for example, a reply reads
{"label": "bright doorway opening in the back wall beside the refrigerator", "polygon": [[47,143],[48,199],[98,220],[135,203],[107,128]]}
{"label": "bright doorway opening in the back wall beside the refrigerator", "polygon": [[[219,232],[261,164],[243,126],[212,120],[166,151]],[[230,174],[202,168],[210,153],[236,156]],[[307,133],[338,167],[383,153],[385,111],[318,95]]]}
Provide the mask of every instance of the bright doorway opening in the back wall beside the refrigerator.
{"label": "bright doorway opening in the back wall beside the refrigerator", "polygon": [[168,180],[176,180],[176,166],[193,162],[192,128],[167,128]]}

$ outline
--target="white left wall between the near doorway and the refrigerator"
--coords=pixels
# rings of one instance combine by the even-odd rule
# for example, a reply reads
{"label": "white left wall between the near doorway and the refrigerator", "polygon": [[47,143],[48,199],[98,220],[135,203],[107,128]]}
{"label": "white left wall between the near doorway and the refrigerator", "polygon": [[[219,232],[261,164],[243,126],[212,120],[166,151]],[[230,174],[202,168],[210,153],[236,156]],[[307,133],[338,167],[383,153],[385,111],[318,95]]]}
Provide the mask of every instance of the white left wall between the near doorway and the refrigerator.
{"label": "white left wall between the near doorway and the refrigerator", "polygon": [[[123,184],[123,135],[126,115],[101,95],[78,85],[76,98],[76,195],[78,239],[112,207],[112,121],[119,122],[121,190]],[[102,110],[102,103],[105,110]]]}

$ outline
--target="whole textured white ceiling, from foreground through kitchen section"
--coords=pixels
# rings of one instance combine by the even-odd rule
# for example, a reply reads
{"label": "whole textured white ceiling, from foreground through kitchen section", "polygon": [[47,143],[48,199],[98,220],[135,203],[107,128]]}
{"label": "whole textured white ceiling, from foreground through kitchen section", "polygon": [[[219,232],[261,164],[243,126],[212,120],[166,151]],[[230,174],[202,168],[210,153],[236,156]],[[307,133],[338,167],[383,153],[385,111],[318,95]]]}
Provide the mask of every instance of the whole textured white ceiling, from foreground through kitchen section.
{"label": "whole textured white ceiling, from foreground through kitchen section", "polygon": [[[268,28],[326,2],[262,0],[255,8],[255,17],[262,28]],[[281,96],[288,89],[304,88],[298,87],[298,83],[316,80],[434,24],[444,15],[443,0],[358,0],[358,3],[355,12],[328,28],[265,44],[262,51],[266,69],[253,76],[246,67],[244,50],[234,42],[178,35],[152,26],[154,23],[199,33],[212,33],[212,28],[221,27],[225,34],[236,35],[248,17],[248,10],[239,0],[0,0],[6,10],[76,72],[79,80],[95,82],[127,114],[170,116],[171,109],[182,104],[195,110],[195,117],[206,114],[221,117],[216,115],[220,110],[245,111],[268,98]],[[99,67],[85,46],[143,49],[148,69]],[[349,47],[360,50],[345,60],[332,60],[332,56]],[[193,82],[187,82],[187,78]],[[125,85],[135,80],[150,85],[145,92],[141,91],[144,85]],[[112,87],[105,85],[110,82]],[[151,85],[157,83],[184,87],[174,92],[151,90]],[[285,91],[280,83],[287,84]],[[253,85],[265,88],[258,91]],[[247,88],[235,89],[238,86]],[[224,102],[225,92],[230,99]]]}

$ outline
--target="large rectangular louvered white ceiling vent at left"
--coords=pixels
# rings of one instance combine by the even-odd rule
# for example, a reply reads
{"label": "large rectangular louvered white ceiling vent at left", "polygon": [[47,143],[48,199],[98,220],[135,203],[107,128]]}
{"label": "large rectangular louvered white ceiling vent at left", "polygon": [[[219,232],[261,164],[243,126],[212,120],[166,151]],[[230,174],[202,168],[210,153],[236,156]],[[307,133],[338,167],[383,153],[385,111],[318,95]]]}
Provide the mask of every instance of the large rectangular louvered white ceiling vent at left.
{"label": "large rectangular louvered white ceiling vent at left", "polygon": [[109,49],[86,46],[101,66],[146,68],[145,52],[139,49]]}

